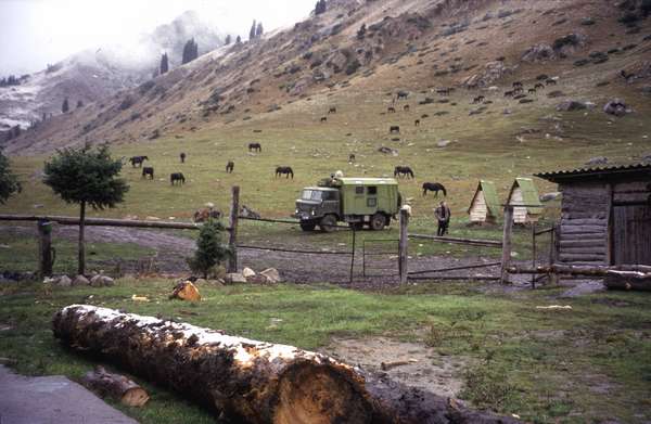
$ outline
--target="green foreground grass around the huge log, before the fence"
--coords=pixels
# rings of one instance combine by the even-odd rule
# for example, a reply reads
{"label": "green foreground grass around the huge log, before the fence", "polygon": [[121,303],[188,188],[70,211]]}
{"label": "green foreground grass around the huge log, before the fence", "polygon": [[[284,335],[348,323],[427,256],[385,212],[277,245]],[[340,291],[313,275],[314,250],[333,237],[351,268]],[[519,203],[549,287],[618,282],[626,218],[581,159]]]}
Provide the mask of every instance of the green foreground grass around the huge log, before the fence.
{"label": "green foreground grass around the huge log, before the fence", "polygon": [[[558,303],[557,290],[484,295],[475,283],[419,284],[387,294],[330,285],[202,286],[204,300],[196,305],[168,300],[170,287],[162,280],[119,280],[101,290],[4,285],[0,323],[10,329],[0,333],[0,350],[22,373],[78,378],[94,362],[59,345],[50,319],[58,308],[86,303],[306,349],[335,336],[420,342],[441,355],[469,358],[462,398],[529,422],[651,417],[649,294],[574,298],[563,300],[571,311],[548,312],[535,306]],[[133,303],[133,294],[151,301]],[[176,395],[145,386],[151,403],[126,410],[142,423],[213,420]]]}

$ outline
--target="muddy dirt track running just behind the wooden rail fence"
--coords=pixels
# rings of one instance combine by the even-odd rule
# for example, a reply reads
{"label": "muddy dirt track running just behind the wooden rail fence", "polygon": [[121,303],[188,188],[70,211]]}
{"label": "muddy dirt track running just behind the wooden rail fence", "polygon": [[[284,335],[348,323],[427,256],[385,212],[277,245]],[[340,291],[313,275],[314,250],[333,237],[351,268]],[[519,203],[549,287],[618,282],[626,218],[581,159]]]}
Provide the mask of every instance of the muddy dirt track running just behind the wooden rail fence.
{"label": "muddy dirt track running just behind the wooden rail fence", "polygon": [[[31,227],[0,227],[0,231],[11,231],[16,236],[34,234],[34,228]],[[77,228],[72,226],[58,226],[54,231],[56,236],[71,241],[75,241],[78,234]],[[90,243],[137,244],[154,249],[158,271],[166,273],[188,273],[186,258],[192,255],[195,247],[193,240],[168,231],[115,227],[87,227],[87,241]],[[282,244],[279,242],[278,245],[281,246]],[[319,248],[319,246],[303,247]],[[345,247],[342,247],[342,249],[345,249]],[[259,271],[272,267],[279,270],[284,281],[294,283],[331,282],[355,288],[381,288],[395,286],[397,282],[398,269],[395,255],[373,257],[371,264],[367,261],[367,277],[365,278],[363,258],[358,249],[353,264],[353,282],[350,282],[352,264],[349,255],[311,255],[243,248],[238,250],[238,257],[240,268],[250,267]],[[128,271],[137,269],[137,260],[115,258],[115,262],[117,261],[122,261],[124,269]],[[409,258],[409,269],[410,271],[419,271],[494,261],[495,259],[486,257],[420,256]],[[371,277],[368,277],[368,274]],[[455,277],[498,275],[499,267],[457,270],[446,272],[446,274]],[[526,279],[519,279],[519,281],[526,284]]]}

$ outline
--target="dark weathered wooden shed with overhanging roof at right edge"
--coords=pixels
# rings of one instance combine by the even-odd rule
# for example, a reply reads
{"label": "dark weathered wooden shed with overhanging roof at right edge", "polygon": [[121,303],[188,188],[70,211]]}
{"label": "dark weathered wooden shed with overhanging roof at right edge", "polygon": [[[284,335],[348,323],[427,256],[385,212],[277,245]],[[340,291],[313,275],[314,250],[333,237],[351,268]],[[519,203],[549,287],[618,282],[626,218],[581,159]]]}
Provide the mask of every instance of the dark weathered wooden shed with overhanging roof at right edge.
{"label": "dark weathered wooden shed with overhanging roof at right edge", "polygon": [[558,261],[651,265],[651,164],[538,174],[563,193]]}

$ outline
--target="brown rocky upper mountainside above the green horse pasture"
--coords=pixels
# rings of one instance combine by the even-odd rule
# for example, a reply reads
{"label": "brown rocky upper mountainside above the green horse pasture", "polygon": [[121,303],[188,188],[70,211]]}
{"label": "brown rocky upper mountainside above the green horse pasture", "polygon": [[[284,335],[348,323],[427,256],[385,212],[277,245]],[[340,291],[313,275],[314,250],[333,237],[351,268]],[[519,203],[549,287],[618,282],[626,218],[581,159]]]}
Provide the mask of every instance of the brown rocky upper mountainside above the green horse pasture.
{"label": "brown rocky upper mountainside above the green horse pasture", "polygon": [[[371,104],[384,114],[398,91],[408,93],[412,106],[438,105],[436,121],[459,131],[475,128],[463,123],[487,116],[492,128],[515,131],[515,121],[521,128],[536,125],[570,98],[601,107],[621,97],[637,113],[649,103],[651,20],[644,1],[327,4],[326,13],[291,28],[221,47],[137,88],[55,116],[12,141],[8,151],[39,153],[197,131],[242,133],[288,120],[309,131],[327,105],[337,103],[357,105],[352,129],[390,142],[383,130],[363,126],[376,119],[365,114]],[[525,81],[524,97],[505,98],[518,80]],[[554,86],[536,93],[535,83]],[[454,91],[442,95],[443,88]],[[297,114],[304,120],[297,121]],[[423,115],[423,121],[434,118]]]}

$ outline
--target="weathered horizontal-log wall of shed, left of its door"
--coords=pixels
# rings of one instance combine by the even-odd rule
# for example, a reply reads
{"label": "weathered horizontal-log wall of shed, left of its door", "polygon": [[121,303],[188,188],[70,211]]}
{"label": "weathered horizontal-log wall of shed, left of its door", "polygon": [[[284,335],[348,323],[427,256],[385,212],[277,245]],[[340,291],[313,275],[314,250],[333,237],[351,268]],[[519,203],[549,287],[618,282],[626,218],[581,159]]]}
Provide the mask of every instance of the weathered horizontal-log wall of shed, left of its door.
{"label": "weathered horizontal-log wall of shed, left of its door", "polygon": [[605,183],[561,184],[560,262],[609,265],[610,187]]}

